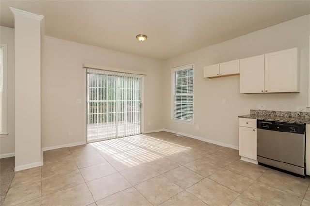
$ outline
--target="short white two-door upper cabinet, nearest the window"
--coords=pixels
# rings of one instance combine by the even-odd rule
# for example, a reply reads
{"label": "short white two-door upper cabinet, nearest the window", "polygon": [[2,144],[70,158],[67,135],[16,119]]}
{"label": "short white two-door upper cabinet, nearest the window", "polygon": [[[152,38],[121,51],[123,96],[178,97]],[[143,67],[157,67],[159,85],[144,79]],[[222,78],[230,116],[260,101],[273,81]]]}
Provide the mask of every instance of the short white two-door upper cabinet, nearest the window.
{"label": "short white two-door upper cabinet, nearest the window", "polygon": [[240,60],[214,64],[203,68],[204,78],[215,78],[240,74]]}

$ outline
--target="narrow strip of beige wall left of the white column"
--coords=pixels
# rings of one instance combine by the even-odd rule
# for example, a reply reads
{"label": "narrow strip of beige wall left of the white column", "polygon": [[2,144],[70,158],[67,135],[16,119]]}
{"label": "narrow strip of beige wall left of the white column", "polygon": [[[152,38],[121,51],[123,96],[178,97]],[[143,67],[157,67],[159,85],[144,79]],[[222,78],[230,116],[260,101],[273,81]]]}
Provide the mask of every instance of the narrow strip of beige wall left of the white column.
{"label": "narrow strip of beige wall left of the white column", "polygon": [[14,93],[14,29],[8,27],[0,28],[0,43],[7,44],[7,132],[6,137],[0,138],[0,155],[13,155],[15,151],[15,93]]}

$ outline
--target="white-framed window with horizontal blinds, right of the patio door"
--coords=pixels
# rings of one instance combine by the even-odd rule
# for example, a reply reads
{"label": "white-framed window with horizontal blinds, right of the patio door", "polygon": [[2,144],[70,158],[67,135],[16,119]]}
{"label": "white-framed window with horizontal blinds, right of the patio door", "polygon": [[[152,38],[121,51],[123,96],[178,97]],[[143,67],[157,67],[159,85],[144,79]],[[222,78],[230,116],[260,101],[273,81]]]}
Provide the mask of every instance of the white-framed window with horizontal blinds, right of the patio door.
{"label": "white-framed window with horizontal blinds, right of the patio door", "polygon": [[172,69],[172,118],[175,120],[194,122],[193,68],[191,64]]}

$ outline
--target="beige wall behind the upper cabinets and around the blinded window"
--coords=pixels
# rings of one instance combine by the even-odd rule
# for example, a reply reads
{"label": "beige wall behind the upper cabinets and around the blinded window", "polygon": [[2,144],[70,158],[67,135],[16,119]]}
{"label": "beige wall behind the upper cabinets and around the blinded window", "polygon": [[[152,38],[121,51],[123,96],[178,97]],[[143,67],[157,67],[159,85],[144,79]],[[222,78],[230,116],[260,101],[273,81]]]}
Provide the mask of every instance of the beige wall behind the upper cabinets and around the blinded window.
{"label": "beige wall behind the upper cabinets and around the blinded window", "polygon": [[[259,105],[281,111],[307,106],[309,24],[310,15],[302,16],[165,61],[165,128],[237,148],[238,115],[249,114]],[[298,47],[300,93],[240,94],[239,75],[203,78],[204,66],[294,47]],[[189,63],[195,63],[194,125],[171,120],[171,68]],[[222,104],[222,99],[226,104]]]}

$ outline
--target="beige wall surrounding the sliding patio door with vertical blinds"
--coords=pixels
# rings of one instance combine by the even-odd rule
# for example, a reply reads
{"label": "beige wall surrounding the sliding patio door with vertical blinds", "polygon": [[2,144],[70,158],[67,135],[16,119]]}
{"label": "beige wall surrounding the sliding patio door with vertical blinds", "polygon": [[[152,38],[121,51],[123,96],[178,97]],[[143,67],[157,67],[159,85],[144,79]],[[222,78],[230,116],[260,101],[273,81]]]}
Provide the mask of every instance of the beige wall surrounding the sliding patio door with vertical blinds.
{"label": "beige wall surrounding the sliding patio door with vertical blinds", "polygon": [[[86,140],[86,71],[82,68],[83,63],[147,73],[144,78],[144,131],[163,128],[162,61],[44,36],[41,75],[43,148]],[[81,99],[82,103],[76,104],[76,99]],[[69,131],[73,131],[72,136],[68,135]]]}

